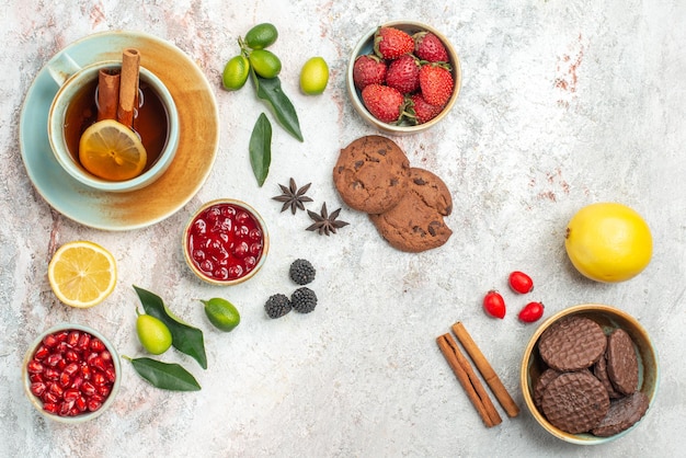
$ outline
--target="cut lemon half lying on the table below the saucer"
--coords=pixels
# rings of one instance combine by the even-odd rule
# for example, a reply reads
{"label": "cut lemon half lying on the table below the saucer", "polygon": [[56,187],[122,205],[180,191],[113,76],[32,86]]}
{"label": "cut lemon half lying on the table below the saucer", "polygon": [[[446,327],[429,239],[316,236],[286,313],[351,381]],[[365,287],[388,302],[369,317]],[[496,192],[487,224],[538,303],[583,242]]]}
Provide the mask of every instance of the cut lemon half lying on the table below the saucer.
{"label": "cut lemon half lying on the table below the saucer", "polygon": [[59,300],[71,307],[88,308],[102,302],[114,290],[117,268],[112,253],[101,245],[75,241],[55,252],[47,275]]}

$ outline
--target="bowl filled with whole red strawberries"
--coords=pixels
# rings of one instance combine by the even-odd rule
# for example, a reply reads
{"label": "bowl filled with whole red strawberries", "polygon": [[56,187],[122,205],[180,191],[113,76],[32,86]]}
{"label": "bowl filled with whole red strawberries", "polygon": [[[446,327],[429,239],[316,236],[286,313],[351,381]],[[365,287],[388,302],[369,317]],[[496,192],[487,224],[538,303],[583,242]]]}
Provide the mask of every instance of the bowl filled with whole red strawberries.
{"label": "bowl filled with whole red strawberries", "polygon": [[390,134],[437,124],[459,94],[457,53],[435,28],[408,21],[367,32],[353,49],[346,84],[359,115]]}

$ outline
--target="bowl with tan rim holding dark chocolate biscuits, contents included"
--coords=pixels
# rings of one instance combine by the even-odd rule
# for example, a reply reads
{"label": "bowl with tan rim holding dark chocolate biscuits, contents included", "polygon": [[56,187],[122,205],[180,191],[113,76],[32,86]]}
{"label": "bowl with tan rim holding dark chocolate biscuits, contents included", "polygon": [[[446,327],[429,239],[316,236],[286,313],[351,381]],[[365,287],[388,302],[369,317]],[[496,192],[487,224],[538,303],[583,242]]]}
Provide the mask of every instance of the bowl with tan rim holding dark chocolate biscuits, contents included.
{"label": "bowl with tan rim holding dark chocolate biscuits, contents included", "polygon": [[524,352],[519,381],[537,423],[562,440],[604,444],[650,412],[660,370],[648,332],[627,312],[599,304],[546,320]]}

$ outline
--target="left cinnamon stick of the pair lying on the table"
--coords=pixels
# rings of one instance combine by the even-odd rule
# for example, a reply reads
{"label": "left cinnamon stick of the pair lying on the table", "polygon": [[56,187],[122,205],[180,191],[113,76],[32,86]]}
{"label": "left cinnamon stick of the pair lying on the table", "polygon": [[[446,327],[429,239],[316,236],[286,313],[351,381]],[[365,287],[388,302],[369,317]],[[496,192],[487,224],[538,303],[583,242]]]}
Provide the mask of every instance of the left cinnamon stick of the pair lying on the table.
{"label": "left cinnamon stick of the pair lying on the table", "polygon": [[493,402],[491,402],[491,398],[489,398],[483,385],[481,385],[481,381],[477,377],[465,355],[462,355],[458,348],[453,336],[450,334],[439,335],[436,339],[436,343],[438,344],[443,356],[453,369],[453,373],[455,373],[455,376],[465,389],[467,397],[473,404],[475,409],[477,409],[477,412],[479,412],[479,416],[481,416],[483,423],[488,427],[502,423],[502,419],[495,410]]}

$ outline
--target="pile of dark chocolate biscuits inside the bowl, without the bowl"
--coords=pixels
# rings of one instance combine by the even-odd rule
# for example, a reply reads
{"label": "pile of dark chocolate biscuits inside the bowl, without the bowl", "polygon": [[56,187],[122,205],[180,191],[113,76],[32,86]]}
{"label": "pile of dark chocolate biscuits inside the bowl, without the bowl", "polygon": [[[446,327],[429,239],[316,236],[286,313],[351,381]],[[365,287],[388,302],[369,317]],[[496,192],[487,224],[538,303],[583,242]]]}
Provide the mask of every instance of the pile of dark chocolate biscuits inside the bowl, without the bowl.
{"label": "pile of dark chocolate biscuits inside the bowl, without the bowl", "polygon": [[534,383],[534,403],[570,434],[608,437],[631,427],[648,410],[639,391],[639,363],[629,334],[606,335],[590,318],[572,316],[548,328],[538,341],[546,364]]}

